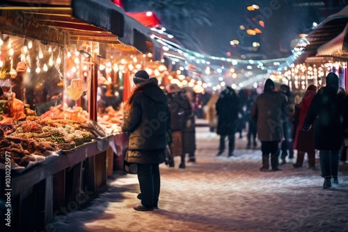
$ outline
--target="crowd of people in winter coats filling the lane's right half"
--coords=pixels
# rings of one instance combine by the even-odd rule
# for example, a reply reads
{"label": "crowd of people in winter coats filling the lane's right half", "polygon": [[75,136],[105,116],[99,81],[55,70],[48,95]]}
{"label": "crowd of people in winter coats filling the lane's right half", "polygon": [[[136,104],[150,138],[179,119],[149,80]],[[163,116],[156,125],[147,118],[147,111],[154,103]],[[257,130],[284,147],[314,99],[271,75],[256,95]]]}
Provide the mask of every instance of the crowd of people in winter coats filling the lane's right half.
{"label": "crowd of people in winter coats filling the lane's right half", "polygon": [[[345,90],[339,88],[335,73],[330,72],[325,81],[326,85],[319,89],[315,85],[309,85],[301,101],[297,103],[294,102],[295,97],[288,85],[277,86],[271,79],[265,81],[261,94],[252,95],[248,91],[244,95],[239,92],[238,96],[230,88],[223,90],[214,101],[215,104],[208,105],[207,109],[210,131],[214,131],[211,124],[214,122],[214,113],[211,111],[212,108],[216,109],[216,133],[220,135],[216,156],[223,153],[226,135],[230,148],[228,156],[232,156],[235,138],[240,137],[239,130],[244,129],[247,122],[246,149],[251,148],[252,138],[253,147],[256,147],[257,136],[262,151],[262,172],[280,171],[279,166],[286,163],[286,157],[294,158],[294,150],[297,151],[294,168],[302,167],[307,154],[308,168],[315,170],[317,150],[324,178],[323,188],[331,187],[331,179],[333,183],[338,183],[339,160],[347,160],[348,97]],[[226,99],[229,99],[228,103]],[[221,108],[219,102],[225,102],[226,106]],[[221,112],[229,116],[221,115]],[[236,118],[236,115],[239,116]],[[226,132],[230,128],[228,124],[234,126],[231,126],[232,131]],[[220,126],[223,131],[219,129]]]}

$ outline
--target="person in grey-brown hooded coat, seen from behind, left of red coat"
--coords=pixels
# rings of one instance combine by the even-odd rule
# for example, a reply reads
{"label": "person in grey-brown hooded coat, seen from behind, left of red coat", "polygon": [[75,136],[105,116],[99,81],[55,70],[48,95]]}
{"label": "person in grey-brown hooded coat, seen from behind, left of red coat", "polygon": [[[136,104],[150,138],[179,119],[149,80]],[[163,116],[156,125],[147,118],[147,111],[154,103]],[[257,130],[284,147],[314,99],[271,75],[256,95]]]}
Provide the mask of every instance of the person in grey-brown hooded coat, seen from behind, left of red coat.
{"label": "person in grey-brown hooded coat, seen from behind, left of red coat", "polygon": [[283,124],[288,117],[286,105],[285,95],[274,91],[274,82],[268,78],[264,83],[264,92],[256,97],[251,108],[251,119],[258,127],[258,139],[261,141],[262,172],[269,170],[269,154],[272,171],[280,170],[278,149],[283,138]]}

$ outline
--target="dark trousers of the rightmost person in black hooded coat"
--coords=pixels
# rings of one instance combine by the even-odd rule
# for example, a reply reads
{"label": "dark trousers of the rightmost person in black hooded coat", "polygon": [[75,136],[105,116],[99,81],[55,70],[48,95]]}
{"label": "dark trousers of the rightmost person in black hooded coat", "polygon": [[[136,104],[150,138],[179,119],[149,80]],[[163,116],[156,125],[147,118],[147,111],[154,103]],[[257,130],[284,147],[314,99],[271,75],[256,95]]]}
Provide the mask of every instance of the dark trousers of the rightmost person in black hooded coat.
{"label": "dark trousers of the rightmost person in black hooded coat", "polygon": [[320,169],[325,179],[337,178],[340,151],[319,151]]}

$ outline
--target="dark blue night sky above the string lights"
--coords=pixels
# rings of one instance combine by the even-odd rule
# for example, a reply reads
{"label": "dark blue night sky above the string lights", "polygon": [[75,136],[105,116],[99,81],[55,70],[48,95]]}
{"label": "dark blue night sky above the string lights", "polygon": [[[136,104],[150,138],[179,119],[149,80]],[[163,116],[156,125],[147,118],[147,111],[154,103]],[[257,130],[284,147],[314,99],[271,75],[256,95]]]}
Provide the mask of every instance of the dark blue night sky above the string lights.
{"label": "dark blue night sky above the string lights", "polygon": [[[255,60],[284,58],[291,55],[292,40],[299,33],[308,32],[313,22],[322,22],[331,13],[323,14],[317,6],[299,6],[304,1],[237,1],[237,0],[124,0],[126,12],[153,11],[167,29],[184,47],[205,55]],[[258,11],[248,11],[253,3]],[[338,11],[338,10],[337,10]],[[335,12],[334,12],[335,13]],[[264,28],[256,19],[264,19]],[[257,26],[262,34],[247,35],[239,29]],[[232,47],[230,40],[239,40]],[[259,42],[258,51],[252,43]]]}

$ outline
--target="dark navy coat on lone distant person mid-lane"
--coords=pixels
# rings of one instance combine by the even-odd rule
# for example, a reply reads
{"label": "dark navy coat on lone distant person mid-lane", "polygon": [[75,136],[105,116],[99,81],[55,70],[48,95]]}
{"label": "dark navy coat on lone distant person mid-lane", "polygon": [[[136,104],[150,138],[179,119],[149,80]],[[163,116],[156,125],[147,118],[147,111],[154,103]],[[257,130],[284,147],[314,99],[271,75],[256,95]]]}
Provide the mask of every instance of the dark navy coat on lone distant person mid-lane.
{"label": "dark navy coat on lone distant person mid-lane", "polygon": [[235,133],[240,105],[241,102],[235,90],[228,87],[221,92],[218,101],[216,101],[216,114],[218,115],[217,134],[229,135]]}

